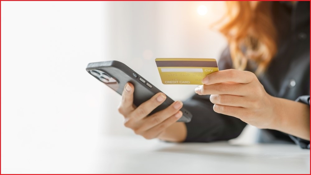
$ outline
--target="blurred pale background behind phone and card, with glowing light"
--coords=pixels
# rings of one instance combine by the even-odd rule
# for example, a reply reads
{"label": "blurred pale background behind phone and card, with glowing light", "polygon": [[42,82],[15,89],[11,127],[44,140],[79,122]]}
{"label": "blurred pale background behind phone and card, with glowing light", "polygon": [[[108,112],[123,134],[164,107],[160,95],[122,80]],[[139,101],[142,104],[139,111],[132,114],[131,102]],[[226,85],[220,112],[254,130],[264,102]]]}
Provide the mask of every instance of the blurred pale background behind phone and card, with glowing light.
{"label": "blurred pale background behind phone and card, with glowing light", "polygon": [[224,7],[1,2],[1,173],[88,173],[98,138],[135,135],[118,113],[121,96],[86,65],[121,61],[185,100],[197,85],[162,85],[154,59],[218,59],[226,40],[209,25]]}

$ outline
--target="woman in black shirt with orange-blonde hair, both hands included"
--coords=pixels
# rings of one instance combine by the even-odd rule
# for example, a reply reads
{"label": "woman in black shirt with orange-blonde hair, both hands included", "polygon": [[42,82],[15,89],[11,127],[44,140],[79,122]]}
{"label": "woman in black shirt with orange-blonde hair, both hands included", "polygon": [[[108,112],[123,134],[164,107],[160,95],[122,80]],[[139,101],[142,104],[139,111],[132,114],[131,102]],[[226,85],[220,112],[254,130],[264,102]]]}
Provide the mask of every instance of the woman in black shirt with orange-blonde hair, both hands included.
{"label": "woman in black shirt with orange-blonde hair, both hands included", "polygon": [[[128,83],[119,106],[124,125],[146,139],[210,142],[233,139],[248,123],[262,128],[261,142],[294,140],[310,149],[310,2],[227,5],[220,32],[229,46],[220,71],[205,77],[187,101],[149,117],[165,95],[135,108]],[[189,123],[176,122],[182,106],[193,114]]]}

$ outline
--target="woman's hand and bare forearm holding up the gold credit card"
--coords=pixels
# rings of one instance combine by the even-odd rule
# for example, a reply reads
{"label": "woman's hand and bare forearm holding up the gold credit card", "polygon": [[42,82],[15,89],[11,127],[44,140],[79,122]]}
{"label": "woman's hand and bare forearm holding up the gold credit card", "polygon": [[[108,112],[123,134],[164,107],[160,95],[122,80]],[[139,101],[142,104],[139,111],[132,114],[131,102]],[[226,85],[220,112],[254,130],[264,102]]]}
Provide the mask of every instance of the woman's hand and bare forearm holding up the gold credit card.
{"label": "woman's hand and bare forearm holding up the gold credit card", "polygon": [[206,76],[202,83],[195,92],[211,94],[216,113],[310,140],[310,106],[269,95],[252,72],[217,71]]}

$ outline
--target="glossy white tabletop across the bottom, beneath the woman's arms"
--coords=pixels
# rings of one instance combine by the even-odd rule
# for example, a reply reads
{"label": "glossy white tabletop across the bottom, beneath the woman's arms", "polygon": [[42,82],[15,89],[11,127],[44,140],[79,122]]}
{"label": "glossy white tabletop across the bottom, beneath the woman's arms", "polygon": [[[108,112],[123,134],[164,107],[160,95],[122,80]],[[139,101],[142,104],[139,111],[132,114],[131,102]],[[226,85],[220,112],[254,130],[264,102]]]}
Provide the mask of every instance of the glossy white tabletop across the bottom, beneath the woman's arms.
{"label": "glossy white tabletop across the bottom, beneath the woman's arms", "polygon": [[63,143],[3,150],[1,173],[310,173],[310,150],[297,145],[169,143],[140,136]]}

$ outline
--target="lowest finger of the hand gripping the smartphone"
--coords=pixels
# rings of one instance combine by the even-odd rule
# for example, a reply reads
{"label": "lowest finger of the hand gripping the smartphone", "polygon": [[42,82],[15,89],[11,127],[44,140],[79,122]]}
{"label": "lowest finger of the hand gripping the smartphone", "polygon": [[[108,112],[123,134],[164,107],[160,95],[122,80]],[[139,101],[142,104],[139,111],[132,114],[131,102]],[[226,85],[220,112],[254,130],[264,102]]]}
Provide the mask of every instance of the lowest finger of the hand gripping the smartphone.
{"label": "lowest finger of the hand gripping the smartphone", "polygon": [[142,135],[146,139],[153,139],[160,135],[161,132],[163,132],[167,127],[174,124],[180,117],[183,116],[183,113],[181,111],[178,111],[177,113],[173,114],[169,118],[167,118],[165,121],[161,122],[160,124],[146,130]]}

